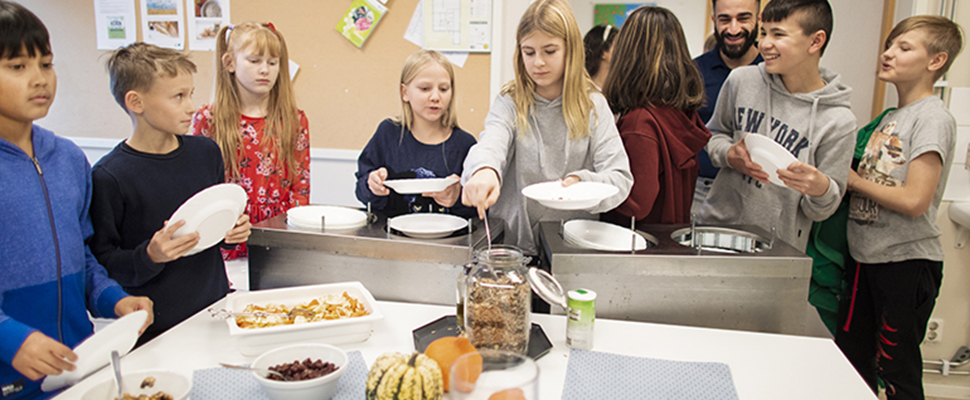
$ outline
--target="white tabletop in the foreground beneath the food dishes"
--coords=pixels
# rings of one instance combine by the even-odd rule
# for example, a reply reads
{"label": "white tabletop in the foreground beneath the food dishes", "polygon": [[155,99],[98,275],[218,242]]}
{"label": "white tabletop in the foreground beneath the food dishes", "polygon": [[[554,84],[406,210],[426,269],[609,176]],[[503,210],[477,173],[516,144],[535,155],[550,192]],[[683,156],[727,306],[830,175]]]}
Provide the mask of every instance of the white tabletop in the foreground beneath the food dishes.
{"label": "white tabletop in the foreground beneath the food dishes", "polygon": [[[214,306],[222,308],[224,300]],[[359,350],[370,365],[387,351],[411,352],[411,330],[454,307],[379,301],[384,320],[363,343],[340,346]],[[562,315],[533,314],[552,341],[552,351],[538,361],[543,399],[562,397],[569,358],[566,321]],[[693,328],[597,319],[594,351],[675,361],[728,364],[741,400],[876,399],[831,339]],[[189,376],[219,362],[248,363],[229,337],[226,322],[206,311],[179,324],[122,358],[125,370],[169,369]],[[92,386],[110,379],[102,369],[55,399],[77,399]]]}

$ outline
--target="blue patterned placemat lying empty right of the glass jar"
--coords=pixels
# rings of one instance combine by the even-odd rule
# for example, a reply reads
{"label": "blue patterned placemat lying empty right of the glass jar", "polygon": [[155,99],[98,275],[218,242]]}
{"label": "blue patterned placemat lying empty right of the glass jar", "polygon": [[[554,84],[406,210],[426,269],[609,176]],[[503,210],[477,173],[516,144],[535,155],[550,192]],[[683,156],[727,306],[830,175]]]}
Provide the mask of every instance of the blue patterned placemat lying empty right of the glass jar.
{"label": "blue patterned placemat lying empty right of the glass jar", "polygon": [[727,364],[571,350],[563,400],[738,400]]}

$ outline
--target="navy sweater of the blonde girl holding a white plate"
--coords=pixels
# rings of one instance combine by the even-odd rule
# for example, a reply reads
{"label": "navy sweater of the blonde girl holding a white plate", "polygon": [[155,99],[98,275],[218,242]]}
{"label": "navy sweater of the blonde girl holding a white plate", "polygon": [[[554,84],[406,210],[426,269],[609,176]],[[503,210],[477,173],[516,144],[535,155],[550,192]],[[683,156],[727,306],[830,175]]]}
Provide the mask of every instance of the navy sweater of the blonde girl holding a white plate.
{"label": "navy sweater of the blonde girl holding a white plate", "polygon": [[387,168],[387,179],[445,178],[451,174],[461,176],[462,164],[468,149],[475,145],[475,137],[459,128],[451,131],[448,140],[429,145],[419,142],[401,125],[390,119],[381,121],[377,132],[357,159],[357,200],[371,203],[371,209],[389,217],[411,212],[449,213],[462,217],[475,215],[475,210],[461,204],[442,207],[430,197],[420,194],[400,195],[391,189],[388,196],[377,196],[367,186],[371,171]]}

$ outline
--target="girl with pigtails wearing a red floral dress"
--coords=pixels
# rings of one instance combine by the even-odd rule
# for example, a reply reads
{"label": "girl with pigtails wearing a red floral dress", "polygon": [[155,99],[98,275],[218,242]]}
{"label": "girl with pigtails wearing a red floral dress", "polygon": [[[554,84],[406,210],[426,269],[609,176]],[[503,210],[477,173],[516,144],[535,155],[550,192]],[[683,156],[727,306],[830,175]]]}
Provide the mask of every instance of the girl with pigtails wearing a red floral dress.
{"label": "girl with pigtails wearing a red floral dress", "polygon": [[[244,22],[217,38],[215,100],[196,112],[194,133],[219,144],[226,181],[246,189],[253,223],[308,204],[309,129],[283,35],[272,23]],[[223,251],[226,259],[246,255],[244,244]]]}

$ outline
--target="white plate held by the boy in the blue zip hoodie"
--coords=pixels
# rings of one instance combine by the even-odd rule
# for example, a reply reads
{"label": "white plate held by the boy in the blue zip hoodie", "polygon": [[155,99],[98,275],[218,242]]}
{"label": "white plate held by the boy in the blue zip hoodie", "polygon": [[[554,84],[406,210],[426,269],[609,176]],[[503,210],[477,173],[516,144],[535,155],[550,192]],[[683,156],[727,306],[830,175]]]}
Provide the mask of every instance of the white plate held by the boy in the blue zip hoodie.
{"label": "white plate held by the boy in the blue zip hoodie", "polygon": [[135,342],[138,341],[138,330],[145,324],[147,318],[147,311],[135,311],[95,332],[74,348],[74,354],[77,354],[77,362],[74,366],[77,368],[74,371],[64,371],[60,375],[44,378],[40,384],[41,390],[50,392],[77,383],[85,376],[108,365],[112,351],[117,351],[120,355],[128,354],[131,348],[135,347]]}

